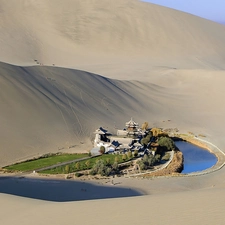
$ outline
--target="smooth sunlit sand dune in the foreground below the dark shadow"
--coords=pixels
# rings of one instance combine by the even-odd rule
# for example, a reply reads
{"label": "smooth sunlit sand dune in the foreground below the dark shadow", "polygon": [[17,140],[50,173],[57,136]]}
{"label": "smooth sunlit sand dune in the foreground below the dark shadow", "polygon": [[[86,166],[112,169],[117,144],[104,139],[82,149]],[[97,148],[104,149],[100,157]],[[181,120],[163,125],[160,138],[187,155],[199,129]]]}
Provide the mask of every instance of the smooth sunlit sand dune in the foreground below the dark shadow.
{"label": "smooth sunlit sand dune in the foreground below the dark shadow", "polygon": [[[168,181],[164,182],[165,186]],[[30,221],[35,225],[74,221],[115,224],[115,220],[120,224],[223,224],[224,200],[224,189],[215,187],[126,199],[62,203],[1,194],[4,209],[0,212],[0,221],[6,225],[28,224]]]}

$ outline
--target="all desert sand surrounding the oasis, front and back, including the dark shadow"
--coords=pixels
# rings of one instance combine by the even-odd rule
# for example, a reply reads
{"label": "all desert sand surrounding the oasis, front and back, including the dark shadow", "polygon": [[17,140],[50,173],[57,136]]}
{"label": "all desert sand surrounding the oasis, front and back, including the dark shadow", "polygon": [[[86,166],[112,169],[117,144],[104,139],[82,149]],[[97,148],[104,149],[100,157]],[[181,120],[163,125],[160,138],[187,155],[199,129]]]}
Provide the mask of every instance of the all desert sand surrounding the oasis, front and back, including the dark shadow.
{"label": "all desert sand surrounding the oasis, front and back, including the dark shadow", "polygon": [[[0,5],[0,167],[87,152],[94,130],[115,132],[131,117],[205,135],[224,151],[223,25],[138,0]],[[0,222],[223,224],[224,174],[113,186],[1,175]]]}

